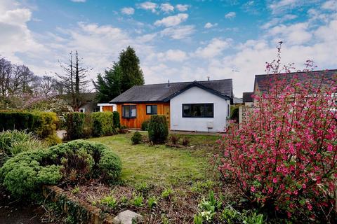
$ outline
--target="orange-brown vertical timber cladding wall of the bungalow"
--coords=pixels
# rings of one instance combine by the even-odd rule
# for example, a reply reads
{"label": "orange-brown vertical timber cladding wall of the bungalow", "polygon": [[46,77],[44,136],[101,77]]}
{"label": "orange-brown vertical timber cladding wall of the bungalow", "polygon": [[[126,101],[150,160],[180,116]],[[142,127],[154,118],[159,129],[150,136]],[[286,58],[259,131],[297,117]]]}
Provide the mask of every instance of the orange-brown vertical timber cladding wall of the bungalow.
{"label": "orange-brown vertical timber cladding wall of the bungalow", "polygon": [[[122,109],[123,105],[136,105],[137,108],[137,117],[136,118],[122,118]],[[129,127],[129,128],[137,128],[140,129],[142,127],[142,123],[145,120],[149,120],[151,115],[146,114],[146,106],[147,105],[157,105],[157,115],[166,116],[166,120],[169,122],[170,127],[170,104],[117,104],[117,111],[119,112],[119,117],[121,119],[121,125]]]}

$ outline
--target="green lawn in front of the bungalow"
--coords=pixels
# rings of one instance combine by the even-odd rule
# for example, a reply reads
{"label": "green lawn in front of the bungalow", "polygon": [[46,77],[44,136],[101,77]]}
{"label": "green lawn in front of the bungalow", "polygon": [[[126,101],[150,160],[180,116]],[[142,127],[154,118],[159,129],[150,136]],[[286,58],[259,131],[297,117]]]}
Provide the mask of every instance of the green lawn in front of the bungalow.
{"label": "green lawn in front of the bungalow", "polygon": [[188,148],[169,148],[164,145],[148,146],[131,144],[131,134],[89,139],[109,146],[121,157],[121,179],[126,184],[141,183],[154,186],[180,186],[194,181],[206,181],[209,177],[209,158],[213,153],[209,144],[216,136],[183,135],[190,139]]}

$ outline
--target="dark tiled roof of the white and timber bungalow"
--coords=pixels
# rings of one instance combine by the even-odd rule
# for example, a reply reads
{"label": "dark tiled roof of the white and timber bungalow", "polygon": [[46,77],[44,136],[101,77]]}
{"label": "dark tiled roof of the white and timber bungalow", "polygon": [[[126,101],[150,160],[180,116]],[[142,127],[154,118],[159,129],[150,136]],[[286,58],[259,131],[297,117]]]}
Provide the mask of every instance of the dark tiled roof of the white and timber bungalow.
{"label": "dark tiled roof of the white and timber bungalow", "polygon": [[171,97],[183,92],[188,87],[197,85],[211,90],[215,94],[230,97],[232,99],[232,79],[194,81],[185,83],[161,83],[152,85],[135,85],[115,97],[110,103],[125,102],[164,102]]}

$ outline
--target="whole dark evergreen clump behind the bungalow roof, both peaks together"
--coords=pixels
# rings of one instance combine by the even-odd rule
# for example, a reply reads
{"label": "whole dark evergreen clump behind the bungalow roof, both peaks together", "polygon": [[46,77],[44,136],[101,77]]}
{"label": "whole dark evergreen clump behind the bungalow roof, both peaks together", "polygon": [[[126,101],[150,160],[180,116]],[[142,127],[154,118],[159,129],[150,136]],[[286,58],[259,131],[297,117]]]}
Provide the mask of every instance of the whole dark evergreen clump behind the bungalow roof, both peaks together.
{"label": "whole dark evergreen clump behind the bungalow roof, both peaks together", "polygon": [[144,76],[135,50],[128,46],[119,54],[119,62],[114,62],[112,69],[98,74],[93,82],[98,92],[98,102],[109,102],[133,85],[143,85]]}

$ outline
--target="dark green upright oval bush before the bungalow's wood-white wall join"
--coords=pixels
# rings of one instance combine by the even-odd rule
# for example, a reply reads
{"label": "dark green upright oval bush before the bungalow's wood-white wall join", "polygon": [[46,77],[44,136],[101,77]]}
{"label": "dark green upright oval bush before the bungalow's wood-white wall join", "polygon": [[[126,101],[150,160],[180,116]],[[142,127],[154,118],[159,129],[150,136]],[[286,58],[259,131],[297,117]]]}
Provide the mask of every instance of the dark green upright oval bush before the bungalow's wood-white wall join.
{"label": "dark green upright oval bush before the bungalow's wood-white wall join", "polygon": [[150,141],[154,144],[163,144],[169,135],[169,127],[165,116],[151,116],[147,131]]}

